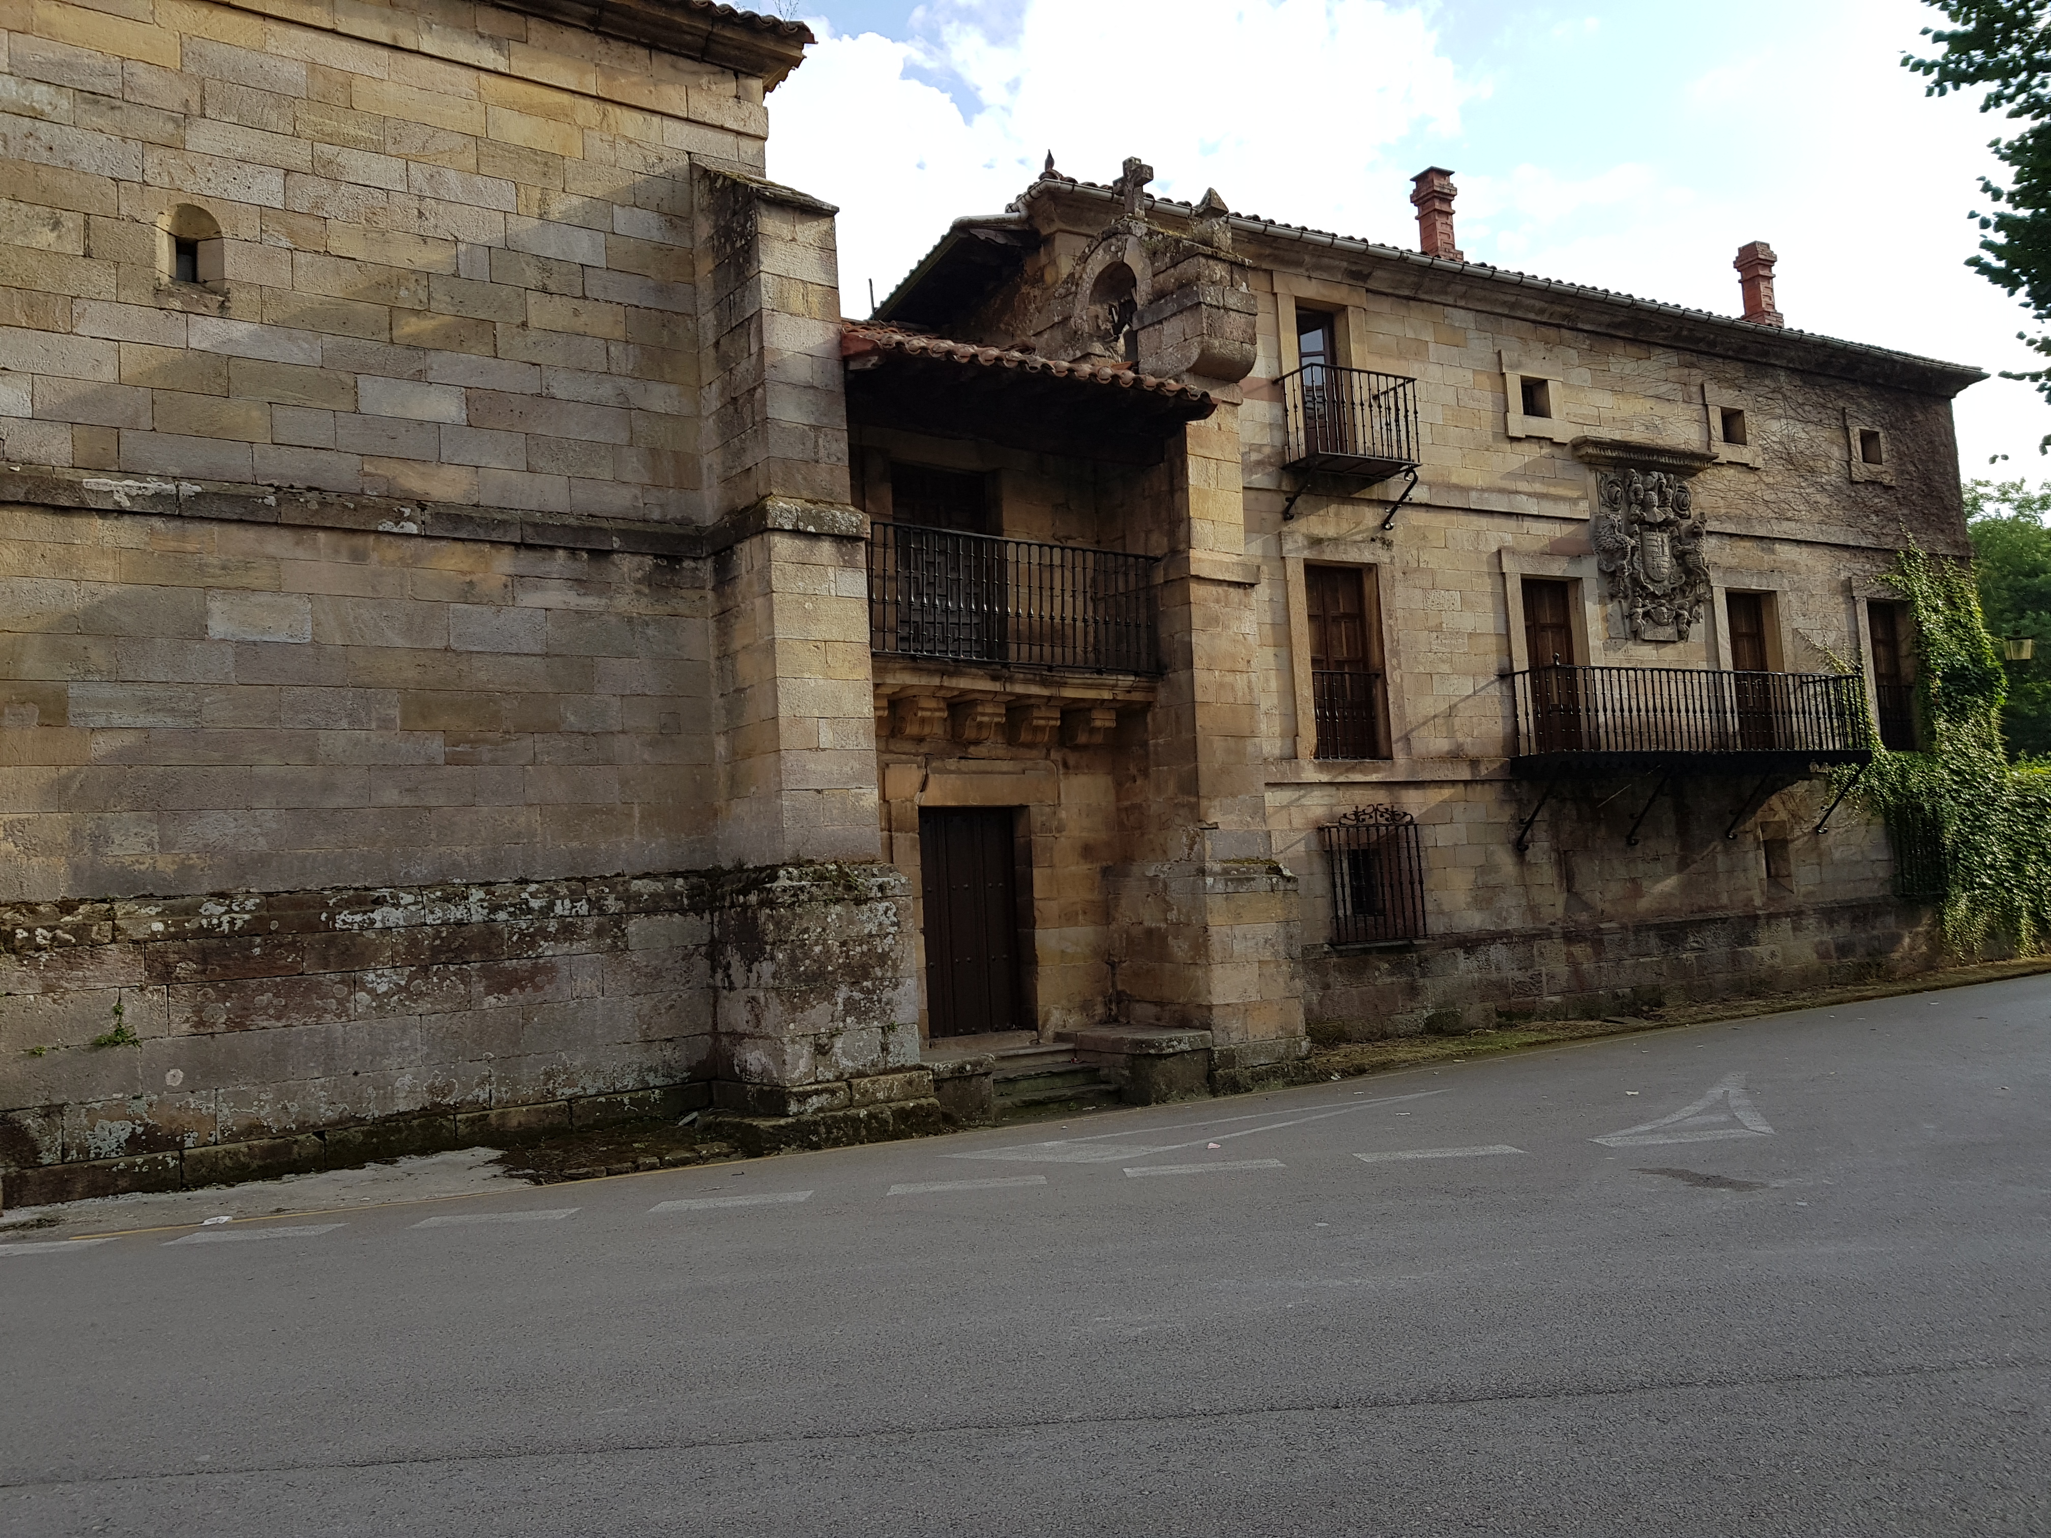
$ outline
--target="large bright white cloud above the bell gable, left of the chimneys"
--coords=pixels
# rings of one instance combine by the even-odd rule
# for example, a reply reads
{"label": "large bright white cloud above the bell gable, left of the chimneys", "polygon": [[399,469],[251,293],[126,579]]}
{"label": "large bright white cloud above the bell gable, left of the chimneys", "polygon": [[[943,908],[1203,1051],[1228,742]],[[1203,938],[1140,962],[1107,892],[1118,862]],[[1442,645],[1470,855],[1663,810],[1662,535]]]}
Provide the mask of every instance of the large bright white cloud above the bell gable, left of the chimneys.
{"label": "large bright white cloud above the bell gable, left of the chimneys", "polygon": [[[1419,8],[1380,0],[1028,0],[1009,33],[948,10],[902,43],[820,35],[769,96],[769,172],[843,207],[841,289],[878,297],[964,213],[991,213],[1048,150],[1108,183],[1128,154],[1153,191],[1401,238],[1405,178],[1382,154],[1430,127],[1458,131],[1473,94]],[[958,78],[964,117],[907,70]],[[964,92],[964,94],[966,94]],[[1421,164],[1421,162],[1419,162]]]}

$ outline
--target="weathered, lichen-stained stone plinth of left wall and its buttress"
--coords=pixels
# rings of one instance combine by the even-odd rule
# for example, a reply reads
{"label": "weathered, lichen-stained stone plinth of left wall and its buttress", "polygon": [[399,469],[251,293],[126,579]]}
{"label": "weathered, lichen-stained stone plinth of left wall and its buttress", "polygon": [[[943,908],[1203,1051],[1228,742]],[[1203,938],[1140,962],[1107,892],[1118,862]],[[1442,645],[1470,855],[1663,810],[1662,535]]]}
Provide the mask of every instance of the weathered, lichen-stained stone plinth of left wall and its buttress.
{"label": "weathered, lichen-stained stone plinth of left wall and its buttress", "polygon": [[4,906],[0,1200],[931,1101],[907,906],[859,863]]}

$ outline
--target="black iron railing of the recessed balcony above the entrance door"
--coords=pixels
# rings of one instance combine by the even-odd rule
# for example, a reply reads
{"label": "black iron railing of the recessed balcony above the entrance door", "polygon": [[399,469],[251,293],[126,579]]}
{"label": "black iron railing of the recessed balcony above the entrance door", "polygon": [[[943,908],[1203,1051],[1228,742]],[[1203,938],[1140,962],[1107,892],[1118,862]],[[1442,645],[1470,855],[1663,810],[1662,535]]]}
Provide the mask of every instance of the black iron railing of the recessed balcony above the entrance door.
{"label": "black iron railing of the recessed balcony above the entrance door", "polygon": [[878,523],[870,648],[886,656],[1155,673],[1153,558]]}

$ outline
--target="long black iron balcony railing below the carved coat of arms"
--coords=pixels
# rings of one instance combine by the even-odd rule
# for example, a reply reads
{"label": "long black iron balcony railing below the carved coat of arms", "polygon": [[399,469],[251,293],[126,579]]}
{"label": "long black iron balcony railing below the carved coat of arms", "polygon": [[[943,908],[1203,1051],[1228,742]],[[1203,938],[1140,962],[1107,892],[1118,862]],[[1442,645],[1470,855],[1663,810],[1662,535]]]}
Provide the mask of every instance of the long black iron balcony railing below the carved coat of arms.
{"label": "long black iron balcony railing below the carved coat of arms", "polygon": [[1512,673],[1522,767],[1864,763],[1858,679],[1840,673],[1546,666]]}

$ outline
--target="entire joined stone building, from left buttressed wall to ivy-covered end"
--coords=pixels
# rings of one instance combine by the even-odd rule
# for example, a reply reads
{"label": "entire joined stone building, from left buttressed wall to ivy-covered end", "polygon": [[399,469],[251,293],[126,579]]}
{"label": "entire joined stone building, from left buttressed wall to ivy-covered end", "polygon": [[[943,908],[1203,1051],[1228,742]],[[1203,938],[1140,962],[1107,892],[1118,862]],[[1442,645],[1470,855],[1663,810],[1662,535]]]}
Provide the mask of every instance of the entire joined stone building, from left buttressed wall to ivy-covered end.
{"label": "entire joined stone building, from left buttressed wall to ivy-covered end", "polygon": [[0,0],[8,1204],[1922,964],[1817,773],[1977,373],[1440,170],[1409,252],[1050,162],[845,324],[806,41]]}

